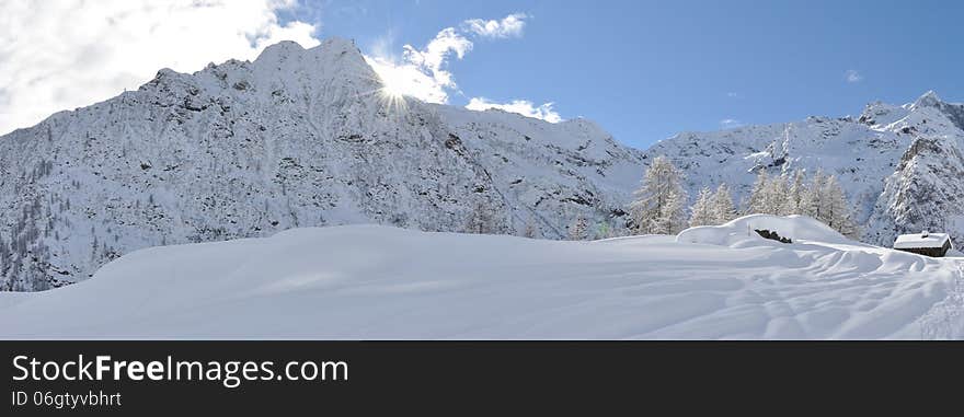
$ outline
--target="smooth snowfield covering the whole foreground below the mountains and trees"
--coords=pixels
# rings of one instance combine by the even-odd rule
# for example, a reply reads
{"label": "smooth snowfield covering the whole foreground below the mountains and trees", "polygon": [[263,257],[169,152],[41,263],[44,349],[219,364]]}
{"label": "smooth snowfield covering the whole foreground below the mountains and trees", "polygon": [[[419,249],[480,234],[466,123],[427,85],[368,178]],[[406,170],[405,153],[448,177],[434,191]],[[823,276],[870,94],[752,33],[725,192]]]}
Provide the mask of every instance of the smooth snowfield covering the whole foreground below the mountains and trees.
{"label": "smooth snowfield covering the whole foreground below the mountains and trees", "polygon": [[596,242],[295,229],[142,250],[73,286],[0,293],[0,315],[18,317],[0,337],[961,338],[962,268],[806,218]]}

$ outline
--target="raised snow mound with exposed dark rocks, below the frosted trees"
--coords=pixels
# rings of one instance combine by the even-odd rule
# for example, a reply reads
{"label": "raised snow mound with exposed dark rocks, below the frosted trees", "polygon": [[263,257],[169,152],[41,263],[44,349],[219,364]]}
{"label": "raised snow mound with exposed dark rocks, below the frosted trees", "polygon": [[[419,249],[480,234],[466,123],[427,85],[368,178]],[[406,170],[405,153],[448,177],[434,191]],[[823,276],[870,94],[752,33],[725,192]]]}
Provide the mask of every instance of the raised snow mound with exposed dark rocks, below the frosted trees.
{"label": "raised snow mound with exposed dark rocks, below the frosted trees", "polygon": [[756,232],[757,230],[776,232],[780,238],[800,243],[814,241],[859,245],[859,243],[848,240],[834,229],[810,217],[770,215],[750,215],[721,225],[690,228],[680,232],[676,236],[676,241],[721,246],[732,246],[747,241],[773,242],[765,240]]}

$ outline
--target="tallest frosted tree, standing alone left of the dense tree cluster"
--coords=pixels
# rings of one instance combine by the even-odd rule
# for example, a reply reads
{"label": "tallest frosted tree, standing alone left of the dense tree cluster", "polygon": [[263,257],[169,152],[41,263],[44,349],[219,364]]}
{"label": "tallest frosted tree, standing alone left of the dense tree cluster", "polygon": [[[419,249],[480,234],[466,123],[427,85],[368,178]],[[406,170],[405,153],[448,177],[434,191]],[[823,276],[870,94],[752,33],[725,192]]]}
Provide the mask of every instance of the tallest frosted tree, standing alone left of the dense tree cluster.
{"label": "tallest frosted tree, standing alone left of the dense tree cluster", "polygon": [[657,157],[646,170],[635,200],[630,204],[632,232],[674,234],[686,225],[686,190],[679,170]]}

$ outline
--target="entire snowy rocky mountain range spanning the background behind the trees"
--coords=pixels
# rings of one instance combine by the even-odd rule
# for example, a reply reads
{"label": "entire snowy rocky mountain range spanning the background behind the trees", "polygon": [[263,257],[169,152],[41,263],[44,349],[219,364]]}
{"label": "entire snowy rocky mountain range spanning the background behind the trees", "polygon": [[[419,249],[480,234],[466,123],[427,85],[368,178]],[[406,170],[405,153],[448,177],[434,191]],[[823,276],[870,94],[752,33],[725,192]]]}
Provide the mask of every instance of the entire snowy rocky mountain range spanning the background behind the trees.
{"label": "entire snowy rocky mountain range spanning the background behind the trees", "polygon": [[[137,91],[0,137],[0,289],[84,279],[134,250],[382,223],[562,239],[621,230],[649,161],[690,196],[756,173],[822,167],[858,202],[865,241],[964,239],[964,106],[928,93],[858,118],[681,134],[646,151],[586,119],[393,97],[349,40],[283,42],[254,61],[168,69]],[[176,268],[171,265],[171,268]]]}

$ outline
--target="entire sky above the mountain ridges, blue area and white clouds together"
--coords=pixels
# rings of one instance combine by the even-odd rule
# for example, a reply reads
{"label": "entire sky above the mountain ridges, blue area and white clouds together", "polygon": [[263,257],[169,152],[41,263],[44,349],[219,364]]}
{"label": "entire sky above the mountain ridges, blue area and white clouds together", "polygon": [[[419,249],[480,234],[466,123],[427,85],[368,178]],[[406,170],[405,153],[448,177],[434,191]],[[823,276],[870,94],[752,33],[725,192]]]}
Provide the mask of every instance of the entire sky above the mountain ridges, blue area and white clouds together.
{"label": "entire sky above the mountain ridges, blue area and white clouds together", "polygon": [[936,0],[0,1],[0,135],[160,68],[190,73],[283,39],[341,36],[401,93],[587,117],[645,148],[928,90],[964,101],[962,16],[964,2]]}

